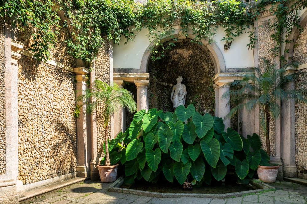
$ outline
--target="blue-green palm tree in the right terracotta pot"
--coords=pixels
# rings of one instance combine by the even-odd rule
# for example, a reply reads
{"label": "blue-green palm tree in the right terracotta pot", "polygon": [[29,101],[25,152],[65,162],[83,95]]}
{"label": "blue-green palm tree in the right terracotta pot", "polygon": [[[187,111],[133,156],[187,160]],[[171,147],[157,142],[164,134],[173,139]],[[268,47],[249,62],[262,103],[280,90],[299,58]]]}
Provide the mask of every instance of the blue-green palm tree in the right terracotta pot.
{"label": "blue-green palm tree in the right terracotta pot", "polygon": [[229,83],[229,91],[224,93],[222,98],[230,97],[230,102],[236,104],[225,117],[233,117],[244,108],[250,112],[256,105],[259,106],[260,127],[266,138],[266,152],[270,155],[270,119],[276,120],[280,117],[278,102],[295,99],[306,103],[307,90],[300,87],[295,89],[295,85],[285,87],[286,83],[295,82],[296,76],[302,72],[288,73],[286,68],[289,65],[276,69],[276,65],[269,59],[262,58],[262,60],[262,66],[255,68],[255,73],[234,74],[242,79]]}

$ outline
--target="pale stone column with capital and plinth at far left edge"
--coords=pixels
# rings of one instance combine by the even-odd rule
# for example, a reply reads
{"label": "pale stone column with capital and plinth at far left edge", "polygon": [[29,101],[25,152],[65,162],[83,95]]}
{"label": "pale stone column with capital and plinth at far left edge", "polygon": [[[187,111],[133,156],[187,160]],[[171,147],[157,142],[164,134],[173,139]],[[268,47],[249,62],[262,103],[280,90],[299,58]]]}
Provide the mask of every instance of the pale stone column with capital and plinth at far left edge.
{"label": "pale stone column with capital and plinth at far left edge", "polygon": [[[2,22],[3,23],[3,22]],[[0,175],[0,203],[18,203],[24,194],[18,180],[18,63],[23,44],[12,41],[10,24],[5,22],[5,138],[6,172]],[[3,54],[3,53],[2,53]]]}

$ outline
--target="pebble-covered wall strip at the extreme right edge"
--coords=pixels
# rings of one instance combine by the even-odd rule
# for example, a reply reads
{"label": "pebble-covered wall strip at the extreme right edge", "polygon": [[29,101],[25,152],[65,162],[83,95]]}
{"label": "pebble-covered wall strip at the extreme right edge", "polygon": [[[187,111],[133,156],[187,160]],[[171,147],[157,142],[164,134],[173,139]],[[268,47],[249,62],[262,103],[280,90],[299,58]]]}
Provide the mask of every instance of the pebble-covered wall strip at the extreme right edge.
{"label": "pebble-covered wall strip at the extreme right edge", "polygon": [[[307,26],[297,39],[297,47],[294,48],[293,60],[301,64],[307,63]],[[307,70],[305,69],[304,72]],[[307,76],[299,75],[296,87],[307,88]],[[307,173],[307,107],[304,103],[295,104],[295,162],[297,171]]]}

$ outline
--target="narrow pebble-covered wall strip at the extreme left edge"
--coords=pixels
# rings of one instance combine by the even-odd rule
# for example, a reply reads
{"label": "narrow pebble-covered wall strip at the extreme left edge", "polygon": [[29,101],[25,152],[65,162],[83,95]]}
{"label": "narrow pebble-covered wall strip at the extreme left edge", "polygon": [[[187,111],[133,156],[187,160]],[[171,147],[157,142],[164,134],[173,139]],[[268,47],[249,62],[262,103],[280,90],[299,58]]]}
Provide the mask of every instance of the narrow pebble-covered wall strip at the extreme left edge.
{"label": "narrow pebble-covered wall strip at the extreme left edge", "polygon": [[6,172],[5,160],[5,64],[4,64],[4,19],[0,18],[0,174]]}

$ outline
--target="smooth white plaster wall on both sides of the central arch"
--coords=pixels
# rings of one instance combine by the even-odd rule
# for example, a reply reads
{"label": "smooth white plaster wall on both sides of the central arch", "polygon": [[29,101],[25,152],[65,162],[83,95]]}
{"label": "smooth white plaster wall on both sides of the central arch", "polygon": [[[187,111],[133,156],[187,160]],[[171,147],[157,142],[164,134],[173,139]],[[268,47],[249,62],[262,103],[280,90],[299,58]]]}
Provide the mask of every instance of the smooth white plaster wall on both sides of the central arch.
{"label": "smooth white plaster wall on both sides of the central arch", "polygon": [[[253,50],[247,49],[249,43],[248,33],[243,32],[232,42],[229,50],[224,50],[225,41],[221,41],[224,37],[223,28],[218,28],[217,34],[214,36],[217,46],[220,48],[225,59],[226,69],[228,68],[248,68],[254,67]],[[134,41],[125,44],[125,39],[119,45],[113,46],[113,65],[115,69],[132,68],[140,69],[143,53],[150,45],[146,28],[143,28],[136,34]]]}

